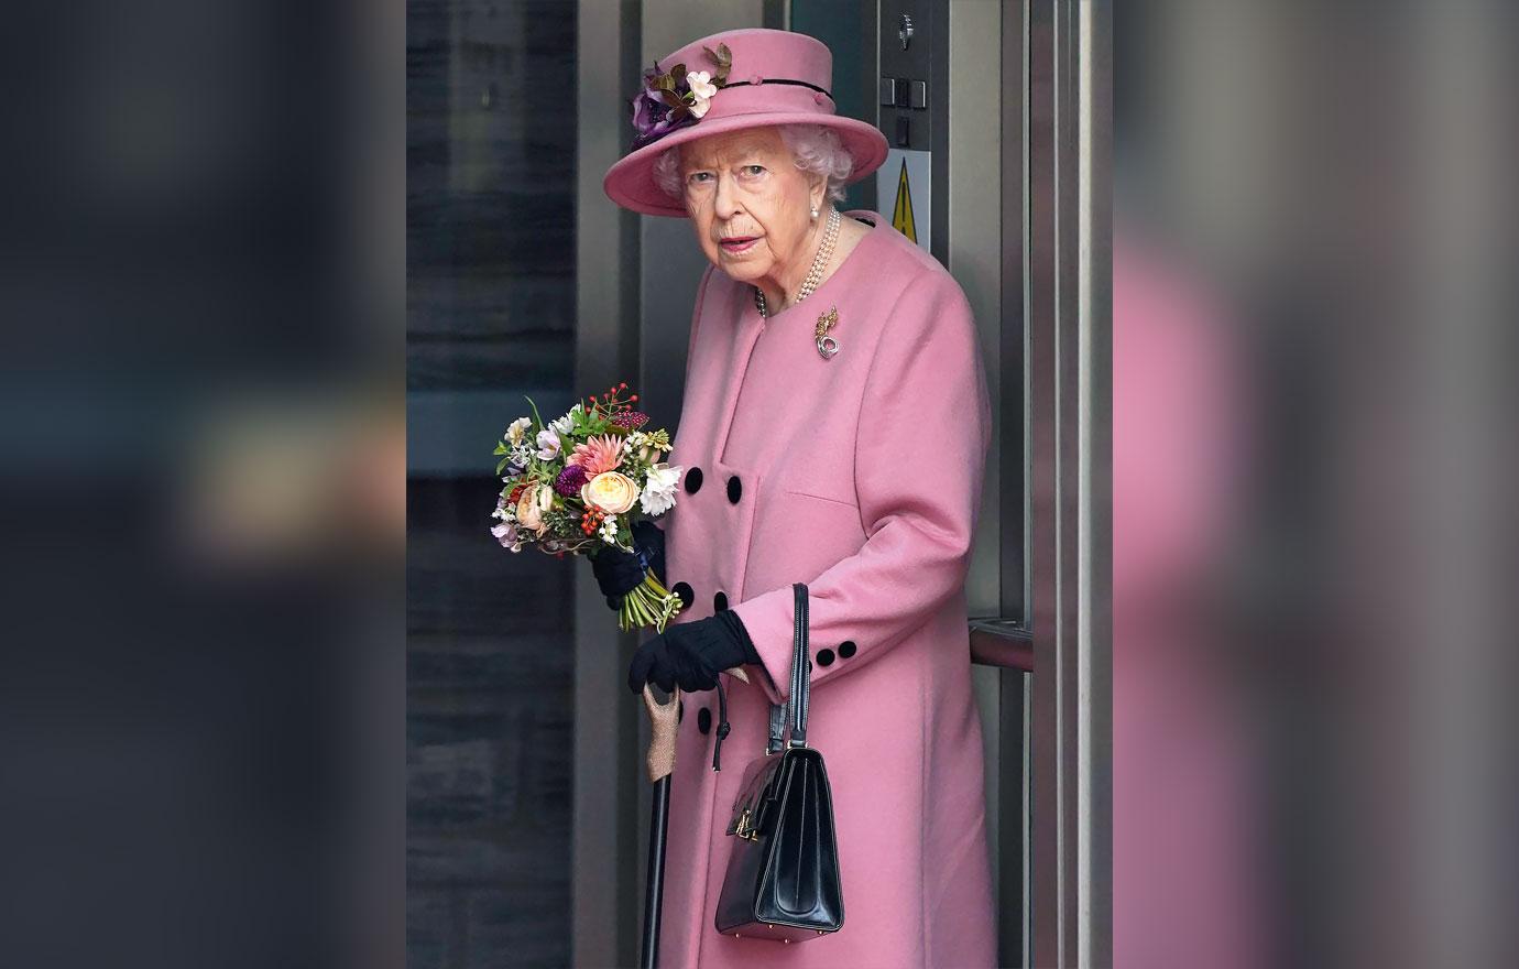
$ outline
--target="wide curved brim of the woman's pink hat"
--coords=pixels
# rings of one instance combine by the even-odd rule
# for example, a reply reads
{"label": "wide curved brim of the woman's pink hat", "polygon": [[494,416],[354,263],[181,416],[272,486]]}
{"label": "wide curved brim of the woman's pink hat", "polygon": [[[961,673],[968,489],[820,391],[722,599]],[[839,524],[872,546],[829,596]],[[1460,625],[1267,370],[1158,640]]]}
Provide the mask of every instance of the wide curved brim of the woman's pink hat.
{"label": "wide curved brim of the woman's pink hat", "polygon": [[630,152],[606,170],[602,188],[609,199],[635,213],[684,217],[687,214],[685,205],[679,199],[671,199],[665,194],[659,184],[655,182],[655,159],[668,149],[687,141],[741,131],[744,128],[769,128],[773,125],[823,125],[837,131],[845,150],[854,158],[854,170],[845,179],[846,185],[858,182],[886,164],[886,135],[875,125],[837,114],[819,114],[816,111],[735,114],[722,118],[705,118],[696,125],[677,128],[664,138],[646,144],[636,152]]}

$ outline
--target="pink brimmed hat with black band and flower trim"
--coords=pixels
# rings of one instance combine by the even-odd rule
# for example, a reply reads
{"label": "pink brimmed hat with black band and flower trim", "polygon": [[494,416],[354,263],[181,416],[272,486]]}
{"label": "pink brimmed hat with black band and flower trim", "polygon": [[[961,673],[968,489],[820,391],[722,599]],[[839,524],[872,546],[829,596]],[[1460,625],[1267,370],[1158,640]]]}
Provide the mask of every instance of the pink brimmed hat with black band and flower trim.
{"label": "pink brimmed hat with black band and flower trim", "polygon": [[[691,84],[699,71],[706,84]],[[832,128],[854,158],[845,184],[860,181],[886,161],[886,135],[834,114],[832,76],[828,47],[805,33],[749,29],[691,41],[644,73],[633,99],[633,150],[608,169],[608,197],[646,216],[685,216],[681,200],[655,182],[655,159],[685,141],[767,125]]]}

